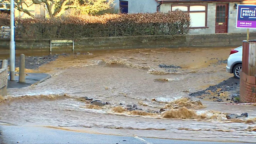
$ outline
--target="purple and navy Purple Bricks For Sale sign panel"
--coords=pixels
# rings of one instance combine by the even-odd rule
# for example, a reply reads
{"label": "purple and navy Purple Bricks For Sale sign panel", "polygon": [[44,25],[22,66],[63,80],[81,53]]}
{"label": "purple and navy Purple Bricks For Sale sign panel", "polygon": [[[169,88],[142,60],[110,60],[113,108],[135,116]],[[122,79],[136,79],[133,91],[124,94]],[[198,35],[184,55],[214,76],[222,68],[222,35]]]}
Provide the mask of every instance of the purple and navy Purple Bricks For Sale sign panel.
{"label": "purple and navy Purple Bricks For Sale sign panel", "polygon": [[237,6],[236,28],[256,28],[256,5]]}

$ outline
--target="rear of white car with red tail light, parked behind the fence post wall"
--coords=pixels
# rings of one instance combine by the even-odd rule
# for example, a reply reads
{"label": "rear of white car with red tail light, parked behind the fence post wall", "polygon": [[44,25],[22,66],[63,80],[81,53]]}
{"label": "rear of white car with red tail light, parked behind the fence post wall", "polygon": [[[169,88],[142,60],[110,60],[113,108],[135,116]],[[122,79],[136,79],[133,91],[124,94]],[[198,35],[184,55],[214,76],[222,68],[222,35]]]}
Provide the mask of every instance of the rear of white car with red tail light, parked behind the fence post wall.
{"label": "rear of white car with red tail light, parked behind the fence post wall", "polygon": [[235,78],[240,78],[240,70],[242,69],[242,52],[243,46],[232,49],[226,66],[228,73],[233,73]]}

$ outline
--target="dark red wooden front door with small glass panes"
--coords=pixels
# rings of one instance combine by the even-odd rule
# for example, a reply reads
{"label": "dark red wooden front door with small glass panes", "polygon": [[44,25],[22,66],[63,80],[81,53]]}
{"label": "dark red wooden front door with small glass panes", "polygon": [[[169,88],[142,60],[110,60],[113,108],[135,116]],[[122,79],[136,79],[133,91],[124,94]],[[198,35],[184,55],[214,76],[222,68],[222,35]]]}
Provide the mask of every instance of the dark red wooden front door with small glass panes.
{"label": "dark red wooden front door with small glass panes", "polygon": [[216,4],[215,33],[228,32],[228,4]]}

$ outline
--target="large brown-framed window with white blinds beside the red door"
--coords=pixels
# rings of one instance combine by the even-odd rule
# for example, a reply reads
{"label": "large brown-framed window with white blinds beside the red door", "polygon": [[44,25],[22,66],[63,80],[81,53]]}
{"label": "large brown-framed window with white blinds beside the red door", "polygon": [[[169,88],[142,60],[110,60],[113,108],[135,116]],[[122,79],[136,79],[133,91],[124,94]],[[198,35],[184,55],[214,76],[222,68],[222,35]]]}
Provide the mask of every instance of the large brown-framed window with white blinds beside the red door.
{"label": "large brown-framed window with white blinds beside the red door", "polygon": [[172,5],[172,11],[176,9],[189,12],[190,27],[207,27],[207,5]]}

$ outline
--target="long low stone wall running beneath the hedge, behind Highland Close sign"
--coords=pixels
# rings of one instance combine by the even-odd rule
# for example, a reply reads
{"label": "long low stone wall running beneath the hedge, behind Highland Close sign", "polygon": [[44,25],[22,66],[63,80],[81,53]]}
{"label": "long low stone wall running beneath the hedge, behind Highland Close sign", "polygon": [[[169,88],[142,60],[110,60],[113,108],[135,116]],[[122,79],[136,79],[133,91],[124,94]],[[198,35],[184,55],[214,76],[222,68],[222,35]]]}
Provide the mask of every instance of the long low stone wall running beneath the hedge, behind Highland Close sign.
{"label": "long low stone wall running beneath the hedge, behind Highland Close sign", "polygon": [[[213,35],[188,35],[175,36],[132,36],[132,37],[96,37],[74,40],[74,50],[99,50],[99,49],[131,49],[131,48],[179,48],[179,47],[224,47],[241,46],[246,39],[246,33],[213,34]],[[256,33],[250,34],[250,39],[256,39]],[[49,51],[50,40],[16,39],[17,50]],[[0,48],[9,49],[9,39],[0,38]],[[54,43],[52,51],[72,50],[72,43]]]}

